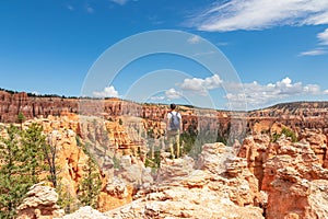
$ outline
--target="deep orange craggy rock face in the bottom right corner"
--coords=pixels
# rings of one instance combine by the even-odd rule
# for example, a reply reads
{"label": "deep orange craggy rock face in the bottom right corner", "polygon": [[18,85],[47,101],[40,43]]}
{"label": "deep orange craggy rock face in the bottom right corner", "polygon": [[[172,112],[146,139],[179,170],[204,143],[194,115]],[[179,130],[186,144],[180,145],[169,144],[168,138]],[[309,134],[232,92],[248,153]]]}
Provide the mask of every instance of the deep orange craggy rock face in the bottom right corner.
{"label": "deep orange craggy rock face in the bottom right corner", "polygon": [[241,147],[238,155],[247,159],[258,191],[268,194],[266,218],[328,217],[326,137],[305,129],[300,138],[291,142],[282,136],[270,142],[267,135],[257,135]]}

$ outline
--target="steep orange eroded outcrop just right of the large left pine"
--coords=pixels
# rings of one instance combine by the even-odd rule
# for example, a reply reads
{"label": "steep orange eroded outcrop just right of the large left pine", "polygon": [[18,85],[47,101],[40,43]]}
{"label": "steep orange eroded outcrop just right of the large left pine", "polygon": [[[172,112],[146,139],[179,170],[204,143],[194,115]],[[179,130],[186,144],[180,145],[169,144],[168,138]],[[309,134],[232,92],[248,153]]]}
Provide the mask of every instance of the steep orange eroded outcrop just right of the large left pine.
{"label": "steep orange eroded outcrop just right of the large left pine", "polygon": [[[113,135],[124,130],[124,127],[109,129],[112,132],[112,135],[109,135],[104,120],[96,117],[85,117],[85,119],[81,122],[78,116],[70,115],[35,118],[25,122],[23,128],[27,128],[32,123],[40,124],[44,127],[48,143],[56,153],[58,186],[62,193],[71,197],[72,206],[81,205],[79,204],[78,195],[80,193],[81,182],[90,171],[91,166],[89,164],[91,157],[96,162],[96,166],[98,166],[95,172],[102,182],[97,200],[98,209],[102,211],[109,210],[132,200],[133,185],[125,184],[126,186],[121,187],[122,184],[115,182],[115,175],[117,174],[114,170],[115,164],[113,158],[116,155],[116,159],[120,162],[121,153],[116,153],[119,149],[118,147],[110,148],[110,142],[114,141]],[[78,136],[77,132],[79,132],[81,137]],[[132,165],[132,163],[130,164]],[[132,177],[132,180],[134,180],[133,175],[137,175],[137,169],[134,168],[133,170],[134,171],[128,168],[126,170],[127,176]],[[138,175],[138,177],[141,177],[141,175]],[[144,182],[148,182],[145,178],[144,176]]]}

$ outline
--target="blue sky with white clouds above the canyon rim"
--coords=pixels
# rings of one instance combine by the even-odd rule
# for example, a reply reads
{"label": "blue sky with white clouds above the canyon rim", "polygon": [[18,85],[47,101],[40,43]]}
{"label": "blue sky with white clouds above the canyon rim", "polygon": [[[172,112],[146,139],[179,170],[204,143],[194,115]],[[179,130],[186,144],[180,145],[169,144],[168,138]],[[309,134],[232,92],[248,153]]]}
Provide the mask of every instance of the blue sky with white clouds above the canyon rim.
{"label": "blue sky with white clouds above the canyon rim", "polygon": [[[238,81],[186,57],[155,54],[131,60],[91,94],[215,108],[236,108],[243,99],[248,110],[328,97],[328,1],[2,0],[0,26],[0,88],[8,90],[79,96],[110,46],[175,30],[195,35],[190,46],[216,46]],[[153,89],[141,97],[136,84],[139,92]],[[211,104],[198,101],[204,99]]]}

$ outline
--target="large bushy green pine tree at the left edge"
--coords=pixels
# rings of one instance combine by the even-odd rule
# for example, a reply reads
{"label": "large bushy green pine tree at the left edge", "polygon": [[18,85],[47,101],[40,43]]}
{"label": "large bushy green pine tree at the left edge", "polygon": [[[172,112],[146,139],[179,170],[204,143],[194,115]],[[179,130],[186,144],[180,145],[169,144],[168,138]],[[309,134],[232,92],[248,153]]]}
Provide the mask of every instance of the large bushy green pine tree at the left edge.
{"label": "large bushy green pine tree at the left edge", "polygon": [[47,170],[43,128],[32,124],[26,130],[11,125],[0,137],[0,218],[14,218],[28,188]]}

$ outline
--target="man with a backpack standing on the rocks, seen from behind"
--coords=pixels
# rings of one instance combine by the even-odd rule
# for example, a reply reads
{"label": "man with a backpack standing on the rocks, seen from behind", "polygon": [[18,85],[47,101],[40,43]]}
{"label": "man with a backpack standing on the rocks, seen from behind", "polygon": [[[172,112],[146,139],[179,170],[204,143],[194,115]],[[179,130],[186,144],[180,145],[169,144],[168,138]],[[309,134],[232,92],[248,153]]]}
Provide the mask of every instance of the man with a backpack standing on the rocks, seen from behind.
{"label": "man with a backpack standing on the rocks, seen from behind", "polygon": [[[166,116],[166,129],[171,158],[174,159],[180,155],[179,135],[181,129],[181,115],[176,111],[176,105],[174,103],[169,105],[169,108],[171,111]],[[176,146],[176,151],[174,151],[174,146]]]}

